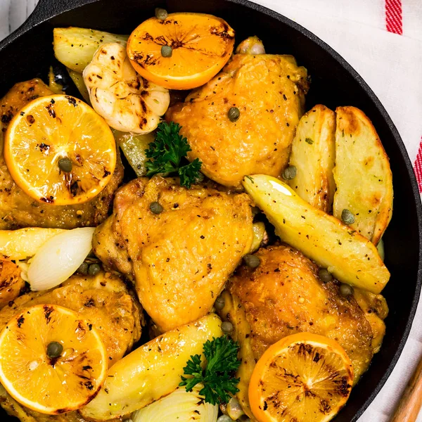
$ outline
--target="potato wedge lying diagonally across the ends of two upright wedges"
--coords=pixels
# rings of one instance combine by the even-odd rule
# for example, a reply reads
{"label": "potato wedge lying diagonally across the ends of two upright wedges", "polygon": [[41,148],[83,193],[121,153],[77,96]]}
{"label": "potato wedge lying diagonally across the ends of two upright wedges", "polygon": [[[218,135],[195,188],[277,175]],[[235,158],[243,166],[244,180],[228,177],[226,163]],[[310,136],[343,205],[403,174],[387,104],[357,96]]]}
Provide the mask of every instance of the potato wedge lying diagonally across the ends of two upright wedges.
{"label": "potato wedge lying diagonally across the ends of two upright wedges", "polygon": [[364,236],[309,205],[279,179],[257,174],[245,177],[243,186],[282,241],[328,268],[343,283],[372,293],[383,290],[390,272],[376,246]]}

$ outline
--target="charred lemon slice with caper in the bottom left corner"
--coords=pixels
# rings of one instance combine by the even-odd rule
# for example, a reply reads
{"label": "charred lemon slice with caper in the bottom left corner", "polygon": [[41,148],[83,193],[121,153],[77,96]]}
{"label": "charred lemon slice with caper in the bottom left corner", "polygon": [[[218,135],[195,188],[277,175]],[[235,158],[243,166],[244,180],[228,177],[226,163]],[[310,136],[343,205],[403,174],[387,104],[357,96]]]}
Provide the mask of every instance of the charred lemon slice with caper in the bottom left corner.
{"label": "charred lemon slice with caper in the bottom left corner", "polygon": [[106,350],[76,312],[37,305],[0,334],[0,382],[20,404],[43,414],[79,409],[106,379]]}

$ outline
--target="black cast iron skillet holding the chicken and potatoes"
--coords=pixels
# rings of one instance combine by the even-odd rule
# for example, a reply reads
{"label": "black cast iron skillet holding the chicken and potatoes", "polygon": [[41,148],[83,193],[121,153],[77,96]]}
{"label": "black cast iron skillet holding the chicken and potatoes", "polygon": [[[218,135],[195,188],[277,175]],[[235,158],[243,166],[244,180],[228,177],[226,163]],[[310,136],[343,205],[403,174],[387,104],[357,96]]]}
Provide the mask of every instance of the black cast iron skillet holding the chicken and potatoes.
{"label": "black cast iron skillet holding the chicken and potatoes", "polygon": [[[414,319],[421,291],[422,207],[411,162],[402,139],[373,91],[357,72],[311,32],[284,16],[247,0],[40,0],[22,27],[0,44],[0,95],[15,82],[46,79],[53,61],[52,28],[79,26],[130,33],[155,7],[212,13],[236,30],[236,41],[256,34],[269,53],[290,53],[312,75],[307,110],[316,103],[332,109],[357,106],[372,120],[390,157],[395,198],[385,233],[385,262],[391,280],[383,291],[390,314],[381,352],[352,391],[336,422],[356,421],[394,368]],[[48,216],[46,216],[48,218]],[[1,421],[14,419],[0,413]]]}

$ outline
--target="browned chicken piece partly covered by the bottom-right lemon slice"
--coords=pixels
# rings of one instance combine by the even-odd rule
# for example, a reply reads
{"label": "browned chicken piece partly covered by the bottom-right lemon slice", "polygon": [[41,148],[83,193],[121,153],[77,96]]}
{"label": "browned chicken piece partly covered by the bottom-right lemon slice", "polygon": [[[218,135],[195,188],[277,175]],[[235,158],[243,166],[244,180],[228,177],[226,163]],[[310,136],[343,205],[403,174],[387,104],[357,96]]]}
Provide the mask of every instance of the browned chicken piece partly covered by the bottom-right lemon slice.
{"label": "browned chicken piece partly covered by the bottom-right lemon slice", "polygon": [[234,324],[241,345],[238,399],[251,418],[248,384],[255,362],[286,335],[308,331],[337,340],[352,360],[354,383],[377,350],[371,324],[354,297],[340,295],[336,281],[322,283],[316,264],[301,252],[274,245],[256,255],[259,267],[243,265],[236,271],[223,293],[221,311],[223,319]]}

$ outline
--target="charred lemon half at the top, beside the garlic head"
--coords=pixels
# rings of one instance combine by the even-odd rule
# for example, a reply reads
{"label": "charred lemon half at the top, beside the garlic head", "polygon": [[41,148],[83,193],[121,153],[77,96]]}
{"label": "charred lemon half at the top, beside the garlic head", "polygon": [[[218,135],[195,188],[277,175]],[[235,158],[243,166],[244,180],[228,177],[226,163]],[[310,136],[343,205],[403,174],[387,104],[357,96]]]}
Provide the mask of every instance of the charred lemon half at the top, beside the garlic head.
{"label": "charred lemon half at the top, beside the garlic head", "polygon": [[127,55],[145,79],[168,89],[207,83],[227,63],[234,30],[225,20],[201,13],[170,13],[141,23],[127,41]]}

